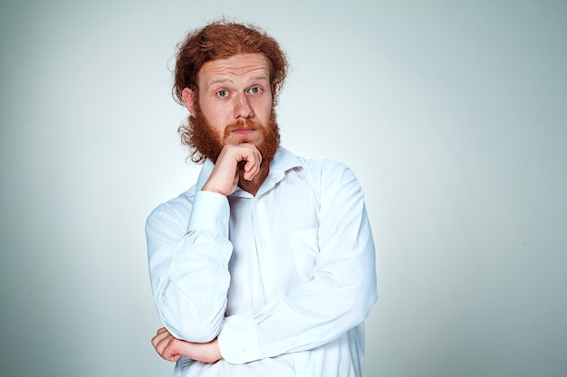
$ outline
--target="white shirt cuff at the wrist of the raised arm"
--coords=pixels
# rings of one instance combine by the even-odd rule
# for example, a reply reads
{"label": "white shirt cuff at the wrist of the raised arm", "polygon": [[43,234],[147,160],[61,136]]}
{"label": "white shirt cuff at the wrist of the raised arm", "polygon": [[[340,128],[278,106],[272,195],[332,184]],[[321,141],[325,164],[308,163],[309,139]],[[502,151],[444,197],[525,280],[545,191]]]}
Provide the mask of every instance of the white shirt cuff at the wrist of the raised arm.
{"label": "white shirt cuff at the wrist of the raised arm", "polygon": [[187,224],[187,233],[207,230],[228,237],[229,218],[230,206],[225,195],[199,191],[195,194],[195,202]]}

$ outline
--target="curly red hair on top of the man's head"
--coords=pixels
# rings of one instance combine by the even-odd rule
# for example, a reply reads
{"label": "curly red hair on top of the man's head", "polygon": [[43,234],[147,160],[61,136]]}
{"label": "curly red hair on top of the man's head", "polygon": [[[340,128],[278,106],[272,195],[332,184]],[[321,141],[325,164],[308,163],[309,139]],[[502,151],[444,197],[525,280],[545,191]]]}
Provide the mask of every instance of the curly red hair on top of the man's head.
{"label": "curly red hair on top of the man's head", "polygon": [[178,44],[173,95],[183,104],[185,88],[197,91],[197,73],[207,61],[227,59],[238,53],[262,53],[270,61],[270,81],[275,83],[274,100],[282,89],[288,62],[278,42],[252,24],[225,19],[187,33]]}

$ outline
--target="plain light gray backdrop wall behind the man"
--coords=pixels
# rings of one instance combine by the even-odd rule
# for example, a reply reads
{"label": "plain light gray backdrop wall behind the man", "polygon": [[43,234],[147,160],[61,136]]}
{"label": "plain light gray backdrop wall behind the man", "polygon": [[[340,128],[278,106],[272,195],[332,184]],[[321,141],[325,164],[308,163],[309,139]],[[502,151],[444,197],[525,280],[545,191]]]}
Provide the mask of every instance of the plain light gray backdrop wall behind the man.
{"label": "plain light gray backdrop wall behind the man", "polygon": [[288,52],[283,145],[365,189],[365,376],[566,375],[564,0],[0,4],[0,375],[170,374],[143,227],[198,171],[169,59],[222,14]]}

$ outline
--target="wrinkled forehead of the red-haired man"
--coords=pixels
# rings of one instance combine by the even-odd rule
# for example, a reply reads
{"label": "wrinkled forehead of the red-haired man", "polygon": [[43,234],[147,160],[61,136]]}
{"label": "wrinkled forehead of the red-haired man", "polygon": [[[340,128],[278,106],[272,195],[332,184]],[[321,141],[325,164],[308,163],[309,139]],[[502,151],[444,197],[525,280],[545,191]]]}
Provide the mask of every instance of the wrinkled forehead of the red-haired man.
{"label": "wrinkled forehead of the red-haired man", "polygon": [[239,53],[227,59],[207,61],[197,74],[199,88],[216,81],[269,80],[270,63],[261,53]]}

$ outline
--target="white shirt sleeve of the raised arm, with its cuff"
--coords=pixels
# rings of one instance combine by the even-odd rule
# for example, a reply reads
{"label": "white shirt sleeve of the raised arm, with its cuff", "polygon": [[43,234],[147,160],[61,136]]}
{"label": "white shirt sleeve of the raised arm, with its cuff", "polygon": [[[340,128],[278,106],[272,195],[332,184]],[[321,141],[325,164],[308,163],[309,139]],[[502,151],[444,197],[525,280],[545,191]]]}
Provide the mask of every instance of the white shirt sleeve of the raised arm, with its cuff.
{"label": "white shirt sleeve of the raised arm, with its cuff", "polygon": [[229,215],[224,195],[197,192],[192,205],[162,204],[146,221],[154,302],[178,339],[209,342],[223,325],[232,254]]}

